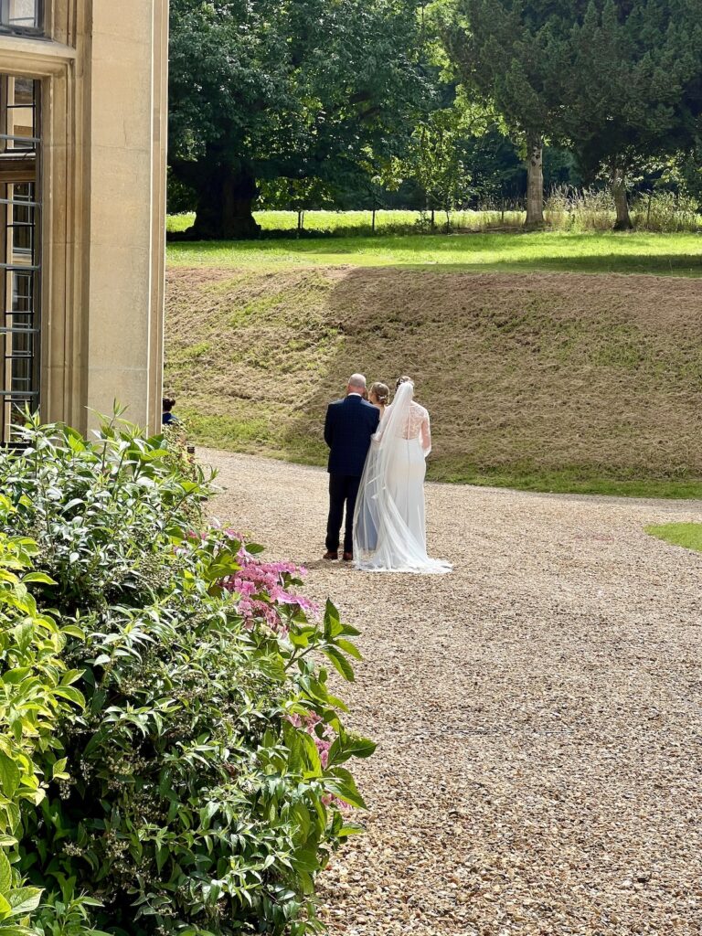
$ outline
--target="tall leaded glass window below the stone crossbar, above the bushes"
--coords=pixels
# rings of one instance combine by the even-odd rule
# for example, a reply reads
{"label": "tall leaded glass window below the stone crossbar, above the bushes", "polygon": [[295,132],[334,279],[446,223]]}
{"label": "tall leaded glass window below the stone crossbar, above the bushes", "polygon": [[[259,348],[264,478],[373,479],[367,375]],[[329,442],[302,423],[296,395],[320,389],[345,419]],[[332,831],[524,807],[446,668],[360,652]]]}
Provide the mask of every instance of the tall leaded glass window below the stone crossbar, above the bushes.
{"label": "tall leaded glass window below the stone crossbar, above the bushes", "polygon": [[37,156],[40,82],[0,77],[0,443],[13,441],[39,404],[40,203]]}

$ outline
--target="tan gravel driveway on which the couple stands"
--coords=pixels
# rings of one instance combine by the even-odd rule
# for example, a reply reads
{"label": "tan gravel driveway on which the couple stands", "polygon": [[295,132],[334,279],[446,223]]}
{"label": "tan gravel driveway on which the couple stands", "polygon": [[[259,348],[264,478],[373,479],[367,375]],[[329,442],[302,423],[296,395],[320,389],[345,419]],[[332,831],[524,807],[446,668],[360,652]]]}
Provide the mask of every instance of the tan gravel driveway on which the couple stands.
{"label": "tan gravel driveway on which the couple stands", "polygon": [[324,473],[200,454],[215,515],[363,631],[343,694],[379,749],[332,936],[702,933],[702,555],[643,532],[698,503],[433,485],[454,574],[364,575],[318,561]]}

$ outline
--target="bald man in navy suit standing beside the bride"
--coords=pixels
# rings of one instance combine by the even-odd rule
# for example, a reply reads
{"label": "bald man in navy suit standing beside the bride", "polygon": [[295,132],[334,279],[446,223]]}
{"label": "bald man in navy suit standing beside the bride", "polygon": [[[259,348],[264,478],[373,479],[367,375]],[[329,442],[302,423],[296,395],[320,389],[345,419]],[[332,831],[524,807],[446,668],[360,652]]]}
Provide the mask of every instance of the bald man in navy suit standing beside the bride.
{"label": "bald man in navy suit standing beside the bride", "polygon": [[324,439],[329,446],[329,522],[325,559],[339,558],[344,509],[344,561],[354,558],[354,509],[360,476],[371,436],[380,422],[380,410],[363,399],[365,391],[366,378],[355,373],[349,379],[346,398],[329,403],[327,410]]}

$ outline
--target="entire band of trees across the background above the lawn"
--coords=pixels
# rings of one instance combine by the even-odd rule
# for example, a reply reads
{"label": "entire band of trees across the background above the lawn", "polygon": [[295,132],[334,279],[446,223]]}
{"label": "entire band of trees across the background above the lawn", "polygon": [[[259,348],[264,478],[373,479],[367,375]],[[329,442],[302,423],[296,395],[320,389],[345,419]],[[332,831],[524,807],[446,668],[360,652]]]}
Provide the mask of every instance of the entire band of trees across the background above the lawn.
{"label": "entire band of trees across the background above the lawn", "polygon": [[197,238],[255,236],[261,190],[448,211],[520,196],[519,150],[529,227],[554,158],[607,180],[628,227],[636,179],[702,191],[698,4],[171,0],[171,196]]}

